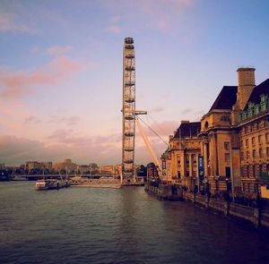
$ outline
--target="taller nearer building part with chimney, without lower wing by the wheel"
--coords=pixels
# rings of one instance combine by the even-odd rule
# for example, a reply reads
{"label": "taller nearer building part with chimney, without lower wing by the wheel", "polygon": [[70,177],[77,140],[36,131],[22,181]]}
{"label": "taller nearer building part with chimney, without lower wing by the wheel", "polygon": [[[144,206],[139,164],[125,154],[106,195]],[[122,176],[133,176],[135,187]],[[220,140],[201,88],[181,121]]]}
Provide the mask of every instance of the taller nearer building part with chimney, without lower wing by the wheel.
{"label": "taller nearer building part with chimney, without lower wing by the wheel", "polygon": [[201,120],[204,183],[212,193],[257,193],[269,183],[269,81],[256,86],[252,67],[239,68],[238,81],[221,89]]}

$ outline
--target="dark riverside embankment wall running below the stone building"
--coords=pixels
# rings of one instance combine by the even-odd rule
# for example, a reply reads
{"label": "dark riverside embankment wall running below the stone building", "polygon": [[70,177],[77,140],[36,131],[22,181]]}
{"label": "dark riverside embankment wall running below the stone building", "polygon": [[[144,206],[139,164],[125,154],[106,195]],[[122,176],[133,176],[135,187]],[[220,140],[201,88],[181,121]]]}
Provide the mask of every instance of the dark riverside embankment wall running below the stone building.
{"label": "dark riverside embankment wall running below the stone building", "polygon": [[185,192],[176,185],[152,186],[145,184],[145,191],[152,192],[159,200],[186,200],[193,204],[221,214],[250,223],[256,228],[269,229],[269,209],[253,208],[232,201],[216,199],[200,193]]}

